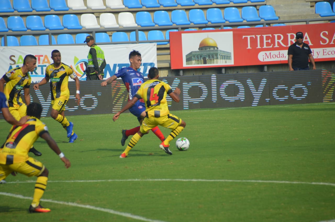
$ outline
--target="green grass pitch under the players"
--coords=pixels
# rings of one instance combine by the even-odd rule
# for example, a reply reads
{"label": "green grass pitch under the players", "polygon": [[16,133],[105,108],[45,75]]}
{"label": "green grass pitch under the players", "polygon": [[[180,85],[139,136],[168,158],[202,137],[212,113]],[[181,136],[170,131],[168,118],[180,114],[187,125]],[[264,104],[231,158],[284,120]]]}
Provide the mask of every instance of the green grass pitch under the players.
{"label": "green grass pitch under the players", "polygon": [[[43,155],[34,158],[50,172],[42,206],[52,211],[29,214],[36,178],[10,175],[0,184],[0,221],[335,221],[334,110],[318,103],[175,111],[187,124],[179,137],[189,139],[188,151],[173,140],[167,155],[150,132],[125,159],[121,129],[138,125],[129,113],[117,122],[112,114],[68,116],[73,144],[59,123],[42,118],[72,166],[39,139]],[[0,121],[1,141],[9,128]]]}

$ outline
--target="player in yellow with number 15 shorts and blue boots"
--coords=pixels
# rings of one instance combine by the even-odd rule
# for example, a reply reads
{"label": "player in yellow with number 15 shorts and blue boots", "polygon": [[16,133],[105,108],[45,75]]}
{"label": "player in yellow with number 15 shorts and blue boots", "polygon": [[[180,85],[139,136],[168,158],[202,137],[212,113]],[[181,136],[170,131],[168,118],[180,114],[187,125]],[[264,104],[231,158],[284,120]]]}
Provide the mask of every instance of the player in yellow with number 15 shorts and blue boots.
{"label": "player in yellow with number 15 shorts and blue boots", "polygon": [[39,90],[40,85],[44,85],[50,80],[51,90],[51,117],[59,122],[63,128],[67,131],[67,137],[69,143],[73,143],[77,138],[77,134],[73,132],[73,123],[69,122],[65,115],[65,105],[70,97],[70,91],[68,87],[69,76],[76,83],[76,100],[77,104],[80,103],[79,95],[79,79],[73,69],[61,62],[61,53],[58,50],[51,52],[51,58],[54,63],[47,66],[45,71],[45,77],[37,84],[34,85],[35,90]]}

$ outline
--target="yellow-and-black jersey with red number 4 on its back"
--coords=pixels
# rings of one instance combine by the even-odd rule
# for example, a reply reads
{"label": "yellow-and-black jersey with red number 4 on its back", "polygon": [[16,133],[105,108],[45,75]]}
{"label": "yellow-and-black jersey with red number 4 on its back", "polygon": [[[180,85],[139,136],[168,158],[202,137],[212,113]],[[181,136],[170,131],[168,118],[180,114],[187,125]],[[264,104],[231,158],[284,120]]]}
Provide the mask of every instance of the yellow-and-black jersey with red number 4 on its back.
{"label": "yellow-and-black jersey with red number 4 on its back", "polygon": [[173,91],[169,84],[157,79],[151,79],[141,85],[135,96],[143,98],[148,118],[162,117],[170,113],[167,107],[166,95],[171,92]]}

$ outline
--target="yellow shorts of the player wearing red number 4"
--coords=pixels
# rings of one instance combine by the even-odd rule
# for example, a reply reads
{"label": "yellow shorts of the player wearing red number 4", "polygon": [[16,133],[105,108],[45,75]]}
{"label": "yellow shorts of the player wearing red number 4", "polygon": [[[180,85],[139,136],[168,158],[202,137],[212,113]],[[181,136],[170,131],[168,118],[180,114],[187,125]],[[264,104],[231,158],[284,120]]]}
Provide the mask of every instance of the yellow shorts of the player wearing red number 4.
{"label": "yellow shorts of the player wearing red number 4", "polygon": [[140,131],[141,133],[146,134],[149,130],[151,130],[152,128],[158,125],[174,130],[181,123],[182,123],[182,119],[180,119],[179,117],[171,113],[163,117],[144,118]]}

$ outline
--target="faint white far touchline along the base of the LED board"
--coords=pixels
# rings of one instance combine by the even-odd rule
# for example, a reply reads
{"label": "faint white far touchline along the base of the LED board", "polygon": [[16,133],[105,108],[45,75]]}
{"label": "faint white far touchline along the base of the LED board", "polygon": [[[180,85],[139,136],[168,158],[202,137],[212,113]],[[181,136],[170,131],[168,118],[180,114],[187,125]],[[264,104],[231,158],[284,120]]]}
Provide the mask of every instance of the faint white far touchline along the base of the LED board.
{"label": "faint white far touchline along the base of the LED board", "polygon": [[[267,108],[276,108],[276,107],[288,107],[288,106],[307,106],[307,105],[326,105],[326,104],[334,104],[334,102],[322,102],[322,103],[306,103],[306,104],[289,104],[289,105],[262,105],[262,106],[245,106],[245,107],[230,107],[230,108],[219,108],[219,109],[197,109],[197,110],[192,110],[192,109],[183,109],[183,110],[174,110],[172,113],[180,113],[180,112],[208,112],[208,111],[214,111],[214,110],[228,110],[228,109],[243,109],[243,108],[255,108],[255,107],[267,107]],[[125,113],[123,115],[131,115],[131,113]],[[102,115],[106,116],[114,116],[114,113],[110,114],[99,114],[99,115],[93,115],[90,117],[99,117]],[[86,118],[86,115],[79,115],[79,116],[71,116],[72,118]],[[42,120],[48,120],[52,119],[51,117],[43,117]],[[6,122],[4,119],[0,120],[1,122]]]}

